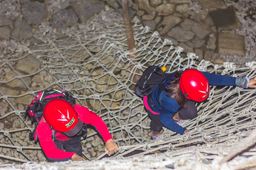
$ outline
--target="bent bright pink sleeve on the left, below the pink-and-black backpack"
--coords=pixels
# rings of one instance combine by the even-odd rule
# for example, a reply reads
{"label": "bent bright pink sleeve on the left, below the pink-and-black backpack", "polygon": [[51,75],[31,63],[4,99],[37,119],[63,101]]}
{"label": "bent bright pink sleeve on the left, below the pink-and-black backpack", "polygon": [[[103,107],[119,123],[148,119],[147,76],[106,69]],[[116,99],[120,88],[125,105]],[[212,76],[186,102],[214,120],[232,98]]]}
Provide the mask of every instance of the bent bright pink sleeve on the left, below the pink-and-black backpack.
{"label": "bent bright pink sleeve on the left, below the pink-and-black backpack", "polygon": [[37,126],[37,136],[40,141],[40,145],[45,155],[53,161],[67,161],[71,160],[71,157],[75,154],[74,152],[65,152],[57,149],[56,145],[52,140],[52,130],[49,125],[42,118]]}

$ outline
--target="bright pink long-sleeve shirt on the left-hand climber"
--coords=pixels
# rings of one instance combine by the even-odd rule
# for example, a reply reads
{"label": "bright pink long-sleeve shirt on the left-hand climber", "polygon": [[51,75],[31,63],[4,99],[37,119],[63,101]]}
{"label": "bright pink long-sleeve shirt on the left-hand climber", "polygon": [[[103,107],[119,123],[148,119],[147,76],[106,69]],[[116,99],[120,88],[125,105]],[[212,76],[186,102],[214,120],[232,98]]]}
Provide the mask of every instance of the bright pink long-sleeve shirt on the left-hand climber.
{"label": "bright pink long-sleeve shirt on the left-hand climber", "polygon": [[[107,125],[104,123],[101,117],[99,117],[94,112],[91,112],[88,108],[80,106],[78,104],[75,104],[74,107],[76,109],[76,112],[78,113],[79,119],[85,124],[91,124],[92,126],[96,127],[105,142],[113,139],[107,129]],[[74,152],[65,152],[63,150],[57,149],[56,145],[52,140],[52,129],[50,129],[50,126],[47,124],[44,117],[42,117],[41,121],[39,122],[36,132],[42,150],[50,159],[70,160],[71,157],[75,154]],[[55,138],[57,140],[70,139],[70,137],[67,137],[60,132],[57,132],[55,134]]]}

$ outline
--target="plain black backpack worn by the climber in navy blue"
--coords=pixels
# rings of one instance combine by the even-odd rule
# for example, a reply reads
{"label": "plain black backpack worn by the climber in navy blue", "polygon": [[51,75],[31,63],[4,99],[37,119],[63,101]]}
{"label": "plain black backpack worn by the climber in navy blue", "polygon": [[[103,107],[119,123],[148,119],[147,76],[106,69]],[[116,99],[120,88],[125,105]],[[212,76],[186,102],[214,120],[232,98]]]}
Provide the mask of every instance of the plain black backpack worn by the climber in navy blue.
{"label": "plain black backpack worn by the climber in navy blue", "polygon": [[[162,82],[164,79],[167,80],[168,77],[173,76],[172,74],[166,75],[159,66],[149,66],[142,74],[141,78],[138,80],[135,86],[135,93],[144,97],[153,92],[153,90],[159,86],[165,91],[164,84],[166,81]],[[154,106],[152,99],[148,96],[149,102]]]}

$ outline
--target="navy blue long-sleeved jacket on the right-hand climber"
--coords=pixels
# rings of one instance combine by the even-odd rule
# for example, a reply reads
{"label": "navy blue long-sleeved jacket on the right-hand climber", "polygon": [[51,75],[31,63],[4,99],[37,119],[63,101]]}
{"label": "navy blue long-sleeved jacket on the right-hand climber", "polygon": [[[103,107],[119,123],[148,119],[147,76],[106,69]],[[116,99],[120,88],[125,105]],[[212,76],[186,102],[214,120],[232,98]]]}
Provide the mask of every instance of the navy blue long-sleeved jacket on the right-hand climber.
{"label": "navy blue long-sleeved jacket on the right-hand climber", "polygon": [[[235,77],[223,76],[220,74],[211,74],[207,72],[202,72],[202,73],[206,76],[210,85],[224,85],[224,86],[236,85]],[[175,73],[170,73],[170,74],[174,75]],[[167,83],[173,79],[175,79],[174,76],[167,78],[167,81],[164,85],[166,86]],[[163,80],[163,82],[164,81],[165,80]],[[180,109],[182,109],[182,107],[178,105],[175,99],[167,97],[165,91],[163,91],[162,98],[161,98],[162,104],[160,104],[159,95],[161,94],[162,91],[163,90],[159,86],[157,86],[157,88],[154,89],[152,94],[149,94],[149,96],[151,96],[152,101],[154,102],[154,104],[156,104],[156,106],[152,107],[149,101],[148,101],[148,105],[154,112],[160,113],[160,121],[165,127],[179,134],[183,134],[186,129],[184,127],[181,127],[172,119],[174,114],[178,112]]]}

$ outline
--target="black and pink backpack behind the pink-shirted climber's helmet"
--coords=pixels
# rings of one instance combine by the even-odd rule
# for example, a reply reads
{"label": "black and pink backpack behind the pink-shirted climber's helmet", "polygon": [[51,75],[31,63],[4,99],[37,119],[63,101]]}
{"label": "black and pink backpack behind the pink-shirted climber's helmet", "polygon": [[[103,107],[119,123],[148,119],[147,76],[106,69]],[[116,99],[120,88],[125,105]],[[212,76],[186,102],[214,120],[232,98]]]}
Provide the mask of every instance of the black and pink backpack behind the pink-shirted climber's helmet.
{"label": "black and pink backpack behind the pink-shirted climber's helmet", "polygon": [[[29,133],[30,140],[34,140],[35,142],[37,142],[37,125],[39,124],[43,116],[44,106],[47,104],[47,102],[51,101],[52,99],[63,99],[65,101],[68,101],[72,105],[76,104],[76,100],[65,89],[52,89],[39,92],[35,96],[35,99],[31,101],[31,104],[26,108],[24,117],[25,119],[26,116],[29,115],[32,123],[34,123],[35,125],[33,132]],[[53,131],[53,138],[55,137],[54,133],[55,132]]]}

